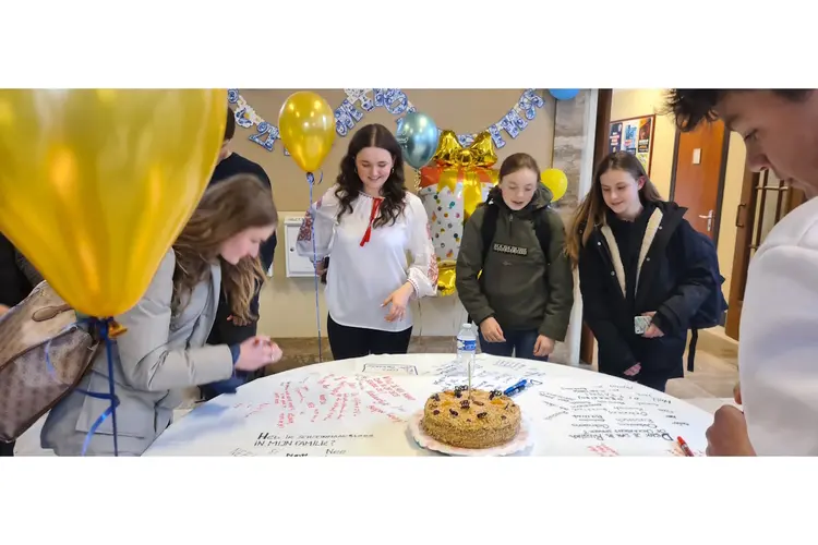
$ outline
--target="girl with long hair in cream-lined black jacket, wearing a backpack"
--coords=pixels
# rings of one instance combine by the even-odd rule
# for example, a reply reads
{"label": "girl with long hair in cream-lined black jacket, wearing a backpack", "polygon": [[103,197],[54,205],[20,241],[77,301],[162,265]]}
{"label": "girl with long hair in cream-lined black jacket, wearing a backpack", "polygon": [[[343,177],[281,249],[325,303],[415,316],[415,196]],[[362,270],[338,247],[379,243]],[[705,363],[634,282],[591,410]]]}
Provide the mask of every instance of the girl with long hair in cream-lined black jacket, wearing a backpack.
{"label": "girl with long hair in cream-lined black jacket, wearing a backpack", "polygon": [[601,373],[660,391],[684,376],[689,320],[715,288],[686,210],[662,201],[636,156],[616,152],[600,164],[567,251]]}

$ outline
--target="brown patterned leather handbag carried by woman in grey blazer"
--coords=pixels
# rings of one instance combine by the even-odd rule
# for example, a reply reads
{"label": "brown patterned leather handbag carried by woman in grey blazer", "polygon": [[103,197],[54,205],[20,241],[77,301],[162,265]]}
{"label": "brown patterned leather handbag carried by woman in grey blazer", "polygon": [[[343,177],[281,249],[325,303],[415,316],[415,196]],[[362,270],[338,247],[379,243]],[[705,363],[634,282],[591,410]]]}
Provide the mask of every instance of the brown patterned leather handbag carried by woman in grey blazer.
{"label": "brown patterned leather handbag carried by woman in grey blazer", "polygon": [[93,328],[40,282],[0,317],[0,441],[13,441],[74,389],[100,347]]}

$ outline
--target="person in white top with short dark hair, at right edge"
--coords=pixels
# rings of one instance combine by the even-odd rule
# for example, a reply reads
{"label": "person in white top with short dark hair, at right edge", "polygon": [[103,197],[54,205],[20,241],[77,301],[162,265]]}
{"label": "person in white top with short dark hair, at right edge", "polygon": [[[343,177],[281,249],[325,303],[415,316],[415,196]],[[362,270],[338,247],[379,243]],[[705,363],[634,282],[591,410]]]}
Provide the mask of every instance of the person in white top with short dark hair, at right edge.
{"label": "person in white top with short dark hair, at right edge", "polygon": [[671,89],[666,109],[682,131],[723,120],[744,138],[751,170],[771,170],[809,198],[753,256],[735,396],[744,412],[717,411],[707,453],[818,456],[818,93]]}

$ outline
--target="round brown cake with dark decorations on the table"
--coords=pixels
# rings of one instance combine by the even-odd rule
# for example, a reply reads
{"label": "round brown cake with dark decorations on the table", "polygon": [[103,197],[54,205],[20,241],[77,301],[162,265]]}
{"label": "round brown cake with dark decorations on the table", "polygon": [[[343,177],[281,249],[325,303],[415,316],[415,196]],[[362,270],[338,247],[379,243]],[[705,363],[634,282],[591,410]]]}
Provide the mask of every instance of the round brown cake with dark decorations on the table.
{"label": "round brown cake with dark decorations on the table", "polygon": [[483,449],[514,439],[520,419],[519,405],[502,391],[469,392],[466,386],[458,386],[426,400],[421,427],[443,444]]}

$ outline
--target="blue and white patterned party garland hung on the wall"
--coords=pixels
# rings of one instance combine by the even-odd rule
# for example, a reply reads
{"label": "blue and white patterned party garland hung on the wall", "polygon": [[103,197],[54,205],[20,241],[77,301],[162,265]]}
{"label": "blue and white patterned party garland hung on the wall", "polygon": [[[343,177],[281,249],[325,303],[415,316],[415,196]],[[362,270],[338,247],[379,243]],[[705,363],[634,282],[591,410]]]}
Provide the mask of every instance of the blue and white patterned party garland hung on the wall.
{"label": "blue and white patterned party garland hung on the wall", "polygon": [[[347,136],[349,132],[363,119],[364,112],[375,108],[385,108],[393,116],[399,116],[395,122],[400,130],[400,123],[406,113],[417,111],[417,108],[400,89],[344,89],[347,94],[341,104],[335,109],[335,132],[338,136]],[[241,96],[239,89],[228,89],[227,101],[234,106],[236,123],[243,129],[255,126],[256,133],[250,135],[250,141],[258,144],[267,152],[273,152],[277,140],[280,140],[278,126],[265,121],[255,112],[252,106]],[[512,138],[516,138],[528,128],[528,122],[537,117],[537,109],[542,108],[545,101],[534,89],[526,89],[520,95],[517,104],[503,116],[496,123],[489,125],[483,131],[489,131],[496,148],[506,145],[501,131]],[[469,146],[474,142],[477,133],[458,134],[457,140],[462,146]],[[287,148],[285,155],[290,155]]]}

